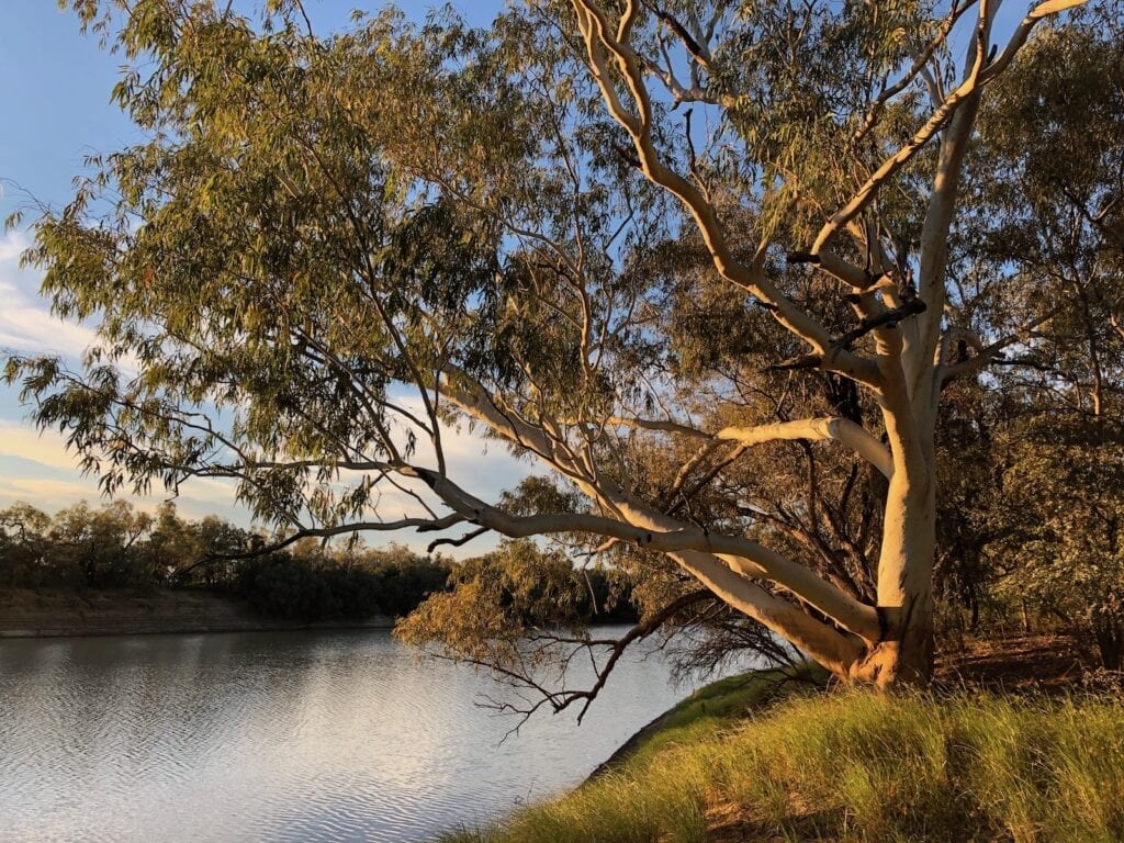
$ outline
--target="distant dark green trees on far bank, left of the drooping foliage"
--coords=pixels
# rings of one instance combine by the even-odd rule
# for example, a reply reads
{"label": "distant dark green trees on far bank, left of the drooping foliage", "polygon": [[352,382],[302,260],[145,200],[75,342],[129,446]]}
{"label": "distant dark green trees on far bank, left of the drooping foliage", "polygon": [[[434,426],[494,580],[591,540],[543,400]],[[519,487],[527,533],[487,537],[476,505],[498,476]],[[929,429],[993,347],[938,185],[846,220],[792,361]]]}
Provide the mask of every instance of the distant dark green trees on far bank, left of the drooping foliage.
{"label": "distant dark green trees on far bank, left of the drooping foliage", "polygon": [[54,517],[27,504],[0,511],[0,583],[13,588],[151,590],[203,587],[237,595],[264,615],[291,620],[400,617],[443,591],[441,555],[362,545],[334,550],[298,542],[254,553],[262,537],[216,516],[187,522],[173,504],[155,517],[125,501],[85,502]]}

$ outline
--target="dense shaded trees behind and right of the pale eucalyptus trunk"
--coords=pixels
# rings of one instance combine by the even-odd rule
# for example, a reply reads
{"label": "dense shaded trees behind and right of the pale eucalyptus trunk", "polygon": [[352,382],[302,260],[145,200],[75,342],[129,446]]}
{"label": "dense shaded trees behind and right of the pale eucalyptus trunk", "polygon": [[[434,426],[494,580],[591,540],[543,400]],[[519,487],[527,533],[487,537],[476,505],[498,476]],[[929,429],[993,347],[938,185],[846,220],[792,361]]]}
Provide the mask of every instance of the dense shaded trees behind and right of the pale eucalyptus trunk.
{"label": "dense shaded trees behind and right of the pale eucalyptus trunk", "polygon": [[[940,432],[944,596],[977,632],[1026,611],[1109,669],[1124,652],[1118,11],[1040,33],[984,103],[959,318],[990,335],[1051,310],[1003,369],[951,384]],[[1013,269],[1001,290],[997,266]]]}

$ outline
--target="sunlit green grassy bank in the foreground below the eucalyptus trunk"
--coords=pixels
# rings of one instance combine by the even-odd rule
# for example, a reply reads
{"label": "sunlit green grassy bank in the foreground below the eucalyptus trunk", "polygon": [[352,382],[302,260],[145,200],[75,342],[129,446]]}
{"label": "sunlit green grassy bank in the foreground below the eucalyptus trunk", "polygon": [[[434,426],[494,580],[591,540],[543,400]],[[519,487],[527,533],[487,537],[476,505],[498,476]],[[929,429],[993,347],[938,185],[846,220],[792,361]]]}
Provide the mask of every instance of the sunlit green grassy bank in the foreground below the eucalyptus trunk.
{"label": "sunlit green grassy bank in the foreground below the eucalyptus trunk", "polygon": [[1124,840],[1118,700],[849,692],[762,708],[771,694],[764,678],[704,689],[610,772],[443,840]]}

